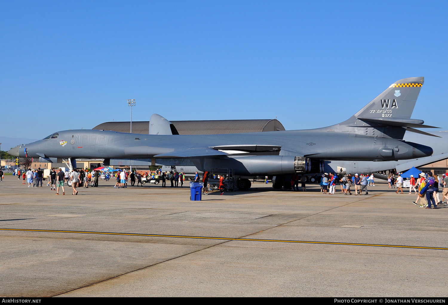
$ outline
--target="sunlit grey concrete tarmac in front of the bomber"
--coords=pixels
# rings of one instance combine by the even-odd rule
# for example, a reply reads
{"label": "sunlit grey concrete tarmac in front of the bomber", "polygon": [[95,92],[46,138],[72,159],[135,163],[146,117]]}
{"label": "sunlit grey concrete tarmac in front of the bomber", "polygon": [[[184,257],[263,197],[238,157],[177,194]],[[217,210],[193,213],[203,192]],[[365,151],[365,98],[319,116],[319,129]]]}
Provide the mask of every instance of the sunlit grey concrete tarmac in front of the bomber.
{"label": "sunlit grey concrete tarmac in front of the bomber", "polygon": [[369,195],[345,196],[339,186],[323,195],[314,184],[308,192],[282,192],[256,182],[249,191],[190,201],[188,183],[114,184],[101,180],[98,188],[78,188],[77,196],[65,188],[62,196],[5,176],[0,295],[447,295],[448,250],[433,248],[448,248],[448,206],[418,208],[409,189],[396,194],[377,180]]}

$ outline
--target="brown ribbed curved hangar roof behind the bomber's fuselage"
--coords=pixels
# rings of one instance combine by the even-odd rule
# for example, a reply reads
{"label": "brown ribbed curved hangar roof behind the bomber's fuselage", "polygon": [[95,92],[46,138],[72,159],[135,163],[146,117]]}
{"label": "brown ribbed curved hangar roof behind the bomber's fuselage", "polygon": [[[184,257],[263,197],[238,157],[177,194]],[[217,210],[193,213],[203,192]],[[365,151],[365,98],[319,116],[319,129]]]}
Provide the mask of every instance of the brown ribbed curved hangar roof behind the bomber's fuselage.
{"label": "brown ribbed curved hangar roof behind the bomber's fuselage", "polygon": [[[284,130],[276,119],[267,120],[216,120],[216,121],[171,121],[179,134],[237,134],[244,132]],[[112,130],[129,133],[130,122],[105,122],[95,126],[96,130]],[[149,121],[132,122],[132,132],[149,133]]]}

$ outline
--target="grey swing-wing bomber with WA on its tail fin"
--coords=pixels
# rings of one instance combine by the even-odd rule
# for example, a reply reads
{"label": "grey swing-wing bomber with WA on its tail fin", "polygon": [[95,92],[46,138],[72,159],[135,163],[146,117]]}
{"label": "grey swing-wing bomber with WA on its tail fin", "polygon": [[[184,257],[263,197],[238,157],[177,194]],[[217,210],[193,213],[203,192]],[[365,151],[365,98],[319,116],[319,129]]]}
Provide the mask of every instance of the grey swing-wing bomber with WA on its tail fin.
{"label": "grey swing-wing bomber with WA on its tail fin", "polygon": [[47,162],[105,158],[111,165],[191,165],[202,171],[229,168],[241,176],[320,172],[323,160],[428,157],[433,153],[430,146],[402,140],[406,130],[430,135],[414,128],[434,128],[410,118],[422,84],[423,77],[401,79],[348,120],[323,128],[220,135],[65,130],[14,147],[9,154]]}

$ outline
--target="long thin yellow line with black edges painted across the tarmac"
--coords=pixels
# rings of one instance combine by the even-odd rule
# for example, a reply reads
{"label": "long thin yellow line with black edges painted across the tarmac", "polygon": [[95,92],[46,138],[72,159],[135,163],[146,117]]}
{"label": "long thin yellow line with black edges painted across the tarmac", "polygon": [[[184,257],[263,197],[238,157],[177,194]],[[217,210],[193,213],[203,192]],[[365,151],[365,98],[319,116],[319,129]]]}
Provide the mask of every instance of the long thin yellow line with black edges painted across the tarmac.
{"label": "long thin yellow line with black edges painted across the tarmac", "polygon": [[411,248],[411,249],[432,249],[448,250],[448,248],[438,247],[418,247],[401,245],[380,245],[369,243],[351,243],[351,242],[313,242],[304,240],[282,240],[282,239],[255,239],[255,238],[225,238],[225,237],[207,237],[207,236],[183,236],[183,235],[159,235],[159,234],[132,234],[132,233],[113,233],[113,232],[88,232],[88,231],[64,231],[64,230],[30,230],[30,229],[1,229],[1,231],[27,231],[27,232],[51,232],[51,233],[78,233],[78,234],[105,234],[105,235],[125,235],[125,236],[146,236],[146,237],[170,237],[170,238],[199,238],[199,239],[218,239],[218,240],[244,240],[249,242],[294,242],[294,243],[313,243],[323,245],[345,245],[345,246],[369,246],[369,247],[391,247],[391,248]]}

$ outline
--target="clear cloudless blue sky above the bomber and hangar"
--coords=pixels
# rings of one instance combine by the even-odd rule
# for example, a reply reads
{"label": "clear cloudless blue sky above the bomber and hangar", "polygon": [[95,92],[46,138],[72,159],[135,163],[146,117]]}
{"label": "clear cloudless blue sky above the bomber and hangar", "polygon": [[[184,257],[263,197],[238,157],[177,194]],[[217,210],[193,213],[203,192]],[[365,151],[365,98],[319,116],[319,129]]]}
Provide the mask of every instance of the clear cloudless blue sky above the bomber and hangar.
{"label": "clear cloudless blue sky above the bomber and hangar", "polygon": [[316,128],[413,76],[425,84],[412,117],[447,130],[447,12],[446,1],[1,1],[0,141],[129,121],[129,98],[133,121]]}

